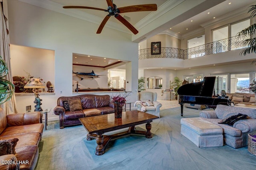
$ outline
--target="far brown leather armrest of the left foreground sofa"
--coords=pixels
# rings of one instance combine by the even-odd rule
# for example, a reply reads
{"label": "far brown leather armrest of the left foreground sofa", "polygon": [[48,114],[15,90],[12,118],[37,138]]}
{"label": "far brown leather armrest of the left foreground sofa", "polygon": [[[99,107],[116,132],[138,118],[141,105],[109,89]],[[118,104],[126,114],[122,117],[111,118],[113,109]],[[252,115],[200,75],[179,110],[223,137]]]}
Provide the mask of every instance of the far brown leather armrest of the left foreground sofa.
{"label": "far brown leather armrest of the left foreground sofa", "polygon": [[21,126],[41,123],[40,111],[6,115],[7,126]]}

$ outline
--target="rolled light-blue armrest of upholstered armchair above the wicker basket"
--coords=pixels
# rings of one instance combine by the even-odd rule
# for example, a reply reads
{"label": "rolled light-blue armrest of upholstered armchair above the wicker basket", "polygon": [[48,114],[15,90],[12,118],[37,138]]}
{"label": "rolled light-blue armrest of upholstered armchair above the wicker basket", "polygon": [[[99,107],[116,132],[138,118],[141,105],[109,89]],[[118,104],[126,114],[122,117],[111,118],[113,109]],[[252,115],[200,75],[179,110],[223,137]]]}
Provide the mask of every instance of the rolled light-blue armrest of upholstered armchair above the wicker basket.
{"label": "rolled light-blue armrest of upholstered armchair above the wicker basket", "polygon": [[243,119],[234,123],[234,128],[239,129],[242,133],[256,131],[256,119]]}

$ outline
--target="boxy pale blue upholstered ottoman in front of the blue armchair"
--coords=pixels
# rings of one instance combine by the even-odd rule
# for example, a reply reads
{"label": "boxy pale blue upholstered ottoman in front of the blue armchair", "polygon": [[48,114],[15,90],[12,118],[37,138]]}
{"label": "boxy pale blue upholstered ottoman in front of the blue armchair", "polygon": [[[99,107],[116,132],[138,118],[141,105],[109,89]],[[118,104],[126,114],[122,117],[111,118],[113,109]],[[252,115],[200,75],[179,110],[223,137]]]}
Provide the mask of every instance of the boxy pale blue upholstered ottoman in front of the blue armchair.
{"label": "boxy pale blue upholstered ottoman in front of the blue armchair", "polygon": [[223,146],[223,129],[202,119],[191,117],[180,119],[180,133],[198,147]]}

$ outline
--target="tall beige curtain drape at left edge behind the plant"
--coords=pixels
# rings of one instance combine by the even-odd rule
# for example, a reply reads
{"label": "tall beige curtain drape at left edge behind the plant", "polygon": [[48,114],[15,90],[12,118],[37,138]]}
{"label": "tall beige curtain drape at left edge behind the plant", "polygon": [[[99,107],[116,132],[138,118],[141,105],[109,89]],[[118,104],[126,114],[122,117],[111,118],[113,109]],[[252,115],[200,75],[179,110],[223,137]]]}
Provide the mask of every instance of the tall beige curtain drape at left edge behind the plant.
{"label": "tall beige curtain drape at left edge behind the plant", "polygon": [[[9,72],[5,79],[13,82],[12,70],[10,63],[10,45],[9,45],[9,31],[8,31],[8,10],[7,0],[0,0],[0,56],[6,62]],[[2,109],[5,110],[6,114],[18,113],[15,94],[12,98],[1,105]]]}

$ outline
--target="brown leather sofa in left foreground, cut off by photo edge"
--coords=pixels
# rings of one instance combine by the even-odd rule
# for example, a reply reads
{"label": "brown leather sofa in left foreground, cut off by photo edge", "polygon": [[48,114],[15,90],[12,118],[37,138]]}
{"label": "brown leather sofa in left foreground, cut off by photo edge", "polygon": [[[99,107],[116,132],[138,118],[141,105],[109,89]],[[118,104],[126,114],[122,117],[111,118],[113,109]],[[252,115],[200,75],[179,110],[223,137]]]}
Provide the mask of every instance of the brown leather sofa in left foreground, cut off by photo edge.
{"label": "brown leather sofa in left foreground, cut off by photo edge", "polygon": [[0,108],[0,140],[18,138],[16,153],[0,156],[0,160],[14,160],[15,164],[1,162],[0,170],[34,170],[39,154],[38,144],[44,129],[40,119],[40,112],[6,115]]}

